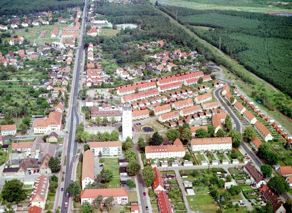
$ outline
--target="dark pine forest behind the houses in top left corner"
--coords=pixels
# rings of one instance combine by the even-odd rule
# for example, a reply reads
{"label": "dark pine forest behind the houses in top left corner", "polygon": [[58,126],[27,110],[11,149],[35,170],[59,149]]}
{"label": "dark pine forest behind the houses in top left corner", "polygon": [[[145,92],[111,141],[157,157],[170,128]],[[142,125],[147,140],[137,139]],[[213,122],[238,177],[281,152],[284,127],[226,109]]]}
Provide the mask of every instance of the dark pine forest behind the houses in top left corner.
{"label": "dark pine forest behind the houses in top left corner", "polygon": [[1,0],[0,15],[22,15],[83,6],[82,0]]}

